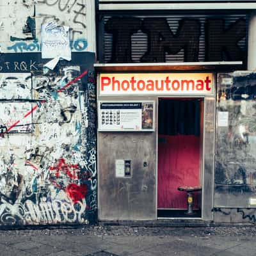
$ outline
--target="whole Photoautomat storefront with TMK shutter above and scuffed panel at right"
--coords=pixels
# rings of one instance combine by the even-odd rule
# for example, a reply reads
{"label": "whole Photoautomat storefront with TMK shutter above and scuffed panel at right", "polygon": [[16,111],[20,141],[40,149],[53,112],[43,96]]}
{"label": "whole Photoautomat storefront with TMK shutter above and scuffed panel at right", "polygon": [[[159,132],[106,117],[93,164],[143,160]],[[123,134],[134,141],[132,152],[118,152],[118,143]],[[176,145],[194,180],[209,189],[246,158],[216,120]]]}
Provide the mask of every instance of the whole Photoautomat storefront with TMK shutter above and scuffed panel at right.
{"label": "whole Photoautomat storefront with TMK shutter above and scuffed panel at right", "polygon": [[99,1],[99,220],[255,221],[255,1],[143,2]]}

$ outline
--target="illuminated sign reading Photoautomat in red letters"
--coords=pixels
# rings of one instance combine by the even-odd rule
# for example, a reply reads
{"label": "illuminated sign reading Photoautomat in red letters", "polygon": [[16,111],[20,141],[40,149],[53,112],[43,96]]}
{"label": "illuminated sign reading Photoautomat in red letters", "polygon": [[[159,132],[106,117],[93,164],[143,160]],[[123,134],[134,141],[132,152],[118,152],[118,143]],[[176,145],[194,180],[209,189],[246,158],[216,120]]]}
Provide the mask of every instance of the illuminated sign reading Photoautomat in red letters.
{"label": "illuminated sign reading Photoautomat in red letters", "polygon": [[211,94],[211,73],[100,74],[100,95]]}

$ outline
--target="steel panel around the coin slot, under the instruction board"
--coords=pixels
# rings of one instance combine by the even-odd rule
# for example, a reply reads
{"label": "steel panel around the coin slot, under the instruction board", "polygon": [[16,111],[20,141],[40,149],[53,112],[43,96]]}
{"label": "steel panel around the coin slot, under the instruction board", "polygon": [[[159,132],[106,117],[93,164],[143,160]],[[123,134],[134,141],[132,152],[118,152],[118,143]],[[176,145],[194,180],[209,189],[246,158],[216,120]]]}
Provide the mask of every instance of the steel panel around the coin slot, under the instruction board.
{"label": "steel panel around the coin slot, under the instruction board", "polygon": [[[155,220],[156,133],[98,132],[98,145],[99,219]],[[116,159],[131,159],[132,177],[115,176]]]}

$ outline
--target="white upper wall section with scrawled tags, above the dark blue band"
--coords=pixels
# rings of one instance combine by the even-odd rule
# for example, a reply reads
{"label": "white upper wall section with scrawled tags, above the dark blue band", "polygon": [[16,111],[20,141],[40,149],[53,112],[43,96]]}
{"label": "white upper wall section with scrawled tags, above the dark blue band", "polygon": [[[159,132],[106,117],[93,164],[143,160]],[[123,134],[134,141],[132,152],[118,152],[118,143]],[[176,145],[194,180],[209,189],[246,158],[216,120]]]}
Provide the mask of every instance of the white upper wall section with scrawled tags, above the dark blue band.
{"label": "white upper wall section with scrawled tags, above the dark blue band", "polygon": [[[70,48],[72,51],[86,50],[88,48],[87,36],[90,34],[90,29],[93,29],[86,24],[91,17],[93,20],[94,15],[93,12],[88,11],[90,6],[86,5],[86,1],[88,0],[24,0],[22,3],[15,2],[10,6],[4,0],[3,5],[8,19],[4,20],[4,23],[1,22],[0,25],[4,28],[1,31],[2,51],[41,51],[41,24],[48,22],[56,22],[60,26],[70,28]],[[18,19],[17,16],[20,18]],[[7,29],[9,27],[10,29]]]}

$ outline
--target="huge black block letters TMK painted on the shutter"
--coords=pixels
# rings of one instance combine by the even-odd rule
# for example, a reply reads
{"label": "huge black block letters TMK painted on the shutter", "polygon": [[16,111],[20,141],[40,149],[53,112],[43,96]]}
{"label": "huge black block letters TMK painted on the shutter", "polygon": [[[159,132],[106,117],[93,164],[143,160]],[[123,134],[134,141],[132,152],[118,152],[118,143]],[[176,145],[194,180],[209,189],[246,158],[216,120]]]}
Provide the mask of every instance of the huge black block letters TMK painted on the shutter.
{"label": "huge black block letters TMK painted on the shutter", "polygon": [[[109,62],[134,62],[132,56],[141,54],[140,62],[162,63],[167,54],[175,55],[180,51],[184,51],[184,61],[195,62],[199,58],[200,44],[205,45],[205,61],[244,61],[245,49],[239,45],[246,37],[243,18],[228,26],[225,19],[209,18],[202,23],[200,19],[184,18],[179,20],[175,32],[170,26],[165,17],[110,17],[104,24],[106,33],[112,36]],[[202,28],[204,43],[200,42]],[[138,42],[134,37],[136,33],[140,33]],[[147,48],[142,52],[136,49],[132,55],[132,44],[143,45],[145,40]]]}

